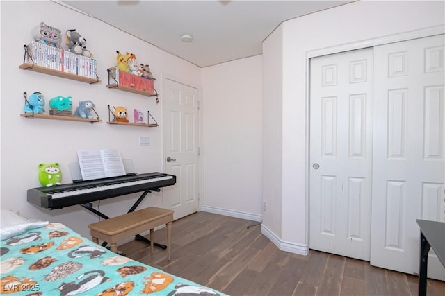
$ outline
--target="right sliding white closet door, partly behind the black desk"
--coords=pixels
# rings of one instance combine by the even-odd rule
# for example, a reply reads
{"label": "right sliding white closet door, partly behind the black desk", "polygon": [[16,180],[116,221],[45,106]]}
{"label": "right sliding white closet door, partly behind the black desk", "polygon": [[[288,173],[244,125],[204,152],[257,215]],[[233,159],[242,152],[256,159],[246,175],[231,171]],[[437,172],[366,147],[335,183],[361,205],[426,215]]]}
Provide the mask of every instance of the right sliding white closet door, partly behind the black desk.
{"label": "right sliding white closet door, partly behind the black desk", "polygon": [[[419,272],[416,219],[445,221],[444,35],[376,46],[371,264]],[[428,277],[445,279],[430,252]]]}

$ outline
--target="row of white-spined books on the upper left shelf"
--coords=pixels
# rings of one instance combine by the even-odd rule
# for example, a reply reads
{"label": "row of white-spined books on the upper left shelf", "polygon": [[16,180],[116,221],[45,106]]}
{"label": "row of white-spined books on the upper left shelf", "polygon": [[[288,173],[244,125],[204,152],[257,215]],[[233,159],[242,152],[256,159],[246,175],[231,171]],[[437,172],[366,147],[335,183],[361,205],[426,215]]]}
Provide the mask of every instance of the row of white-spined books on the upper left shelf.
{"label": "row of white-spined books on the upper left shelf", "polygon": [[65,73],[97,78],[97,60],[33,41],[28,44],[26,62]]}

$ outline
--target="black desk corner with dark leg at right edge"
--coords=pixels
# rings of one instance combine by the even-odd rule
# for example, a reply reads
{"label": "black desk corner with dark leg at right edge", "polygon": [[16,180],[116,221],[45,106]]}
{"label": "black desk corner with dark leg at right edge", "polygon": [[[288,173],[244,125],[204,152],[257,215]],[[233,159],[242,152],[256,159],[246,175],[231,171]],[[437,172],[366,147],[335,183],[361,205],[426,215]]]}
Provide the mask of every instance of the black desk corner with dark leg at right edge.
{"label": "black desk corner with dark leg at right edge", "polygon": [[426,272],[430,247],[445,267],[445,223],[417,219],[420,227],[419,295],[426,295]]}

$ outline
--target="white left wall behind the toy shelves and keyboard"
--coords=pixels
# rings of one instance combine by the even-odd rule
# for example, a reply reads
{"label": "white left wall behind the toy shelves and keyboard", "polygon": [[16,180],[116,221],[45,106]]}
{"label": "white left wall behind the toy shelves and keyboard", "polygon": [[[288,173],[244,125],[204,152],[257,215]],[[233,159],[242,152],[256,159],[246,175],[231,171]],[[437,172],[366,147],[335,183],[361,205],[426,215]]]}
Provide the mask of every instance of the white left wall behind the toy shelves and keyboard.
{"label": "white left wall behind the toy shelves and keyboard", "polygon": [[[20,211],[24,216],[63,222],[77,232],[89,236],[89,223],[97,216],[76,207],[48,211],[26,202],[26,190],[40,186],[38,164],[58,162],[63,171],[63,183],[71,183],[68,164],[76,162],[76,150],[118,148],[122,157],[133,159],[137,173],[162,171],[162,128],[140,128],[108,125],[107,105],[124,105],[128,110],[149,110],[162,126],[162,79],[169,75],[201,85],[201,69],[165,53],[127,33],[108,26],[74,10],[51,1],[1,1],[1,207]],[[76,28],[88,40],[87,46],[98,61],[102,83],[88,85],[64,78],[47,76],[19,69],[23,62],[23,46],[31,42],[31,28],[44,21],[66,30]],[[115,51],[136,53],[139,62],[150,64],[155,88],[161,103],[154,98],[106,88],[108,67],[115,65]],[[46,101],[58,95],[72,96],[74,105],[92,100],[102,123],[25,119],[23,92],[42,92]],[[46,105],[46,110],[48,110]],[[132,114],[132,112],[130,112]],[[133,120],[132,115],[129,116]],[[139,136],[148,136],[151,146],[139,147]],[[109,216],[126,212],[139,194],[112,198],[100,202],[100,210]],[[97,206],[97,202],[94,203]],[[161,194],[150,194],[140,207],[161,206]]]}

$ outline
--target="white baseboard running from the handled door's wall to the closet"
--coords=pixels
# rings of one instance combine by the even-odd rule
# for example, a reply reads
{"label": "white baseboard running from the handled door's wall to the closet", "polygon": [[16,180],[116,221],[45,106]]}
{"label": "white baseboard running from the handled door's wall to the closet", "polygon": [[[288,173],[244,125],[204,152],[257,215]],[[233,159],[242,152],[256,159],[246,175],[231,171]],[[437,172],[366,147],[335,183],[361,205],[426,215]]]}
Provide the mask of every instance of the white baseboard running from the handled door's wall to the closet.
{"label": "white baseboard running from the handled door's wall to the closet", "polygon": [[[220,214],[224,216],[240,218],[245,220],[252,220],[257,222],[261,222],[263,220],[263,216],[261,215],[245,213],[242,211],[234,211],[231,209],[221,209],[218,207],[202,206],[201,211],[207,211],[213,214]],[[264,236],[270,239],[270,241],[274,243],[281,251],[290,252],[293,254],[305,255],[305,256],[309,254],[309,247],[307,247],[307,245],[300,245],[298,243],[282,241],[264,225],[261,225],[261,234],[264,234]]]}

